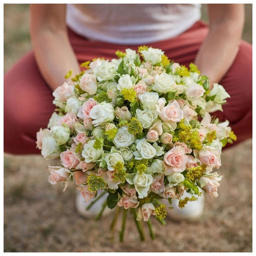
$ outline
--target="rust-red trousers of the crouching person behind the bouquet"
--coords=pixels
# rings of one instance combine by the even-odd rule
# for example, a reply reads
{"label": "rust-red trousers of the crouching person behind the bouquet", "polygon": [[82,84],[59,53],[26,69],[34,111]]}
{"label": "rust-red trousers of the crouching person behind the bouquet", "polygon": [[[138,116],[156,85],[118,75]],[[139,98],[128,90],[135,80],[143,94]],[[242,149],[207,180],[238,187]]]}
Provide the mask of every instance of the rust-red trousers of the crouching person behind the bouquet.
{"label": "rust-red trousers of the crouching person behind the bouquet", "polygon": [[[175,62],[188,66],[194,61],[208,27],[201,21],[176,38],[151,43]],[[116,50],[137,50],[138,46],[88,41],[69,30],[69,39],[79,63],[97,57],[115,58]],[[214,51],[214,49],[213,49]],[[51,53],[49,53],[51,54]],[[56,61],[56,65],[60,65]],[[72,68],[72,67],[70,67]],[[230,99],[223,112],[215,114],[228,119],[237,135],[237,143],[252,137],[252,46],[241,41],[237,57],[220,82]],[[36,132],[46,128],[54,111],[52,90],[41,76],[34,53],[21,58],[4,77],[4,151],[13,154],[39,154]]]}

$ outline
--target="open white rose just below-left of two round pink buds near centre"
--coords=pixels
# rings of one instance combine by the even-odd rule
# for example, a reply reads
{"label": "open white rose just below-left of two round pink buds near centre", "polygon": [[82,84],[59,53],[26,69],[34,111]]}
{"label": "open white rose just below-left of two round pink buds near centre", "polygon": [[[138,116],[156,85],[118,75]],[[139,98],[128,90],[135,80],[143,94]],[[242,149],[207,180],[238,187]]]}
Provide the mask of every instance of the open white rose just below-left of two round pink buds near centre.
{"label": "open white rose just below-left of two round pink buds near centre", "polygon": [[137,140],[137,151],[134,152],[136,160],[151,159],[157,154],[157,150],[145,139]]}

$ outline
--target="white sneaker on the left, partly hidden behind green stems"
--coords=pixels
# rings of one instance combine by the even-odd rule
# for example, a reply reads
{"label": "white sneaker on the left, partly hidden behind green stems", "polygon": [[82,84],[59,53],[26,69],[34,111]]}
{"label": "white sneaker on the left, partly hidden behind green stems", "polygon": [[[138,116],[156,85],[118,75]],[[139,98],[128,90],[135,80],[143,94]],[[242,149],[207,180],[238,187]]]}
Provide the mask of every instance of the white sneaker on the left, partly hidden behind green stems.
{"label": "white sneaker on the left, partly hidden behind green stems", "polygon": [[[103,192],[102,191],[98,191],[98,195],[97,197],[99,197],[99,195]],[[95,202],[90,209],[86,210],[87,206],[91,204],[91,202],[93,202],[93,200],[95,200],[96,198],[90,200],[89,202],[85,202],[85,199],[83,198],[82,194],[80,191],[76,192],[76,210],[79,213],[79,215],[86,217],[86,218],[93,218],[96,217],[99,212],[102,209],[102,205],[106,202],[107,200],[107,196],[108,193],[105,193],[101,198],[99,198],[99,200],[97,202]],[[105,207],[102,216],[106,216],[108,214],[111,213],[111,209],[108,208],[108,206]]]}

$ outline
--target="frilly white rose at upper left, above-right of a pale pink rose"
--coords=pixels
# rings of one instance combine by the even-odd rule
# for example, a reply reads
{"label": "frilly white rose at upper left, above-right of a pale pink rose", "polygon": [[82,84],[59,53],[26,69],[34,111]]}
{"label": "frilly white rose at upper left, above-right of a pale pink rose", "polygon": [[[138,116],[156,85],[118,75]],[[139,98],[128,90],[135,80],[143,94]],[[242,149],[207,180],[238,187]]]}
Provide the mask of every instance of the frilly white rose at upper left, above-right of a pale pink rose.
{"label": "frilly white rose at upper left, above-right of a pale pink rose", "polygon": [[115,64],[105,60],[103,60],[99,66],[96,66],[93,72],[97,75],[98,81],[112,80],[117,74]]}

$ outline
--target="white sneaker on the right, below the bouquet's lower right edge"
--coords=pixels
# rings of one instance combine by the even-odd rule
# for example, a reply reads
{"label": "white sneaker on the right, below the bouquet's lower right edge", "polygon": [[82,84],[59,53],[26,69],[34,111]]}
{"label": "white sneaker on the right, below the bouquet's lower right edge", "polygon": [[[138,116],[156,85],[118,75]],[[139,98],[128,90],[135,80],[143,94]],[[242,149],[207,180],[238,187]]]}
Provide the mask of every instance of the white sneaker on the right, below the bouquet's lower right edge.
{"label": "white sneaker on the right, below the bouquet's lower right edge", "polygon": [[[195,221],[197,220],[200,216],[202,216],[204,212],[204,204],[205,204],[205,192],[202,192],[202,195],[198,197],[197,201],[192,201],[188,202],[186,206],[182,209],[178,206],[179,200],[174,199],[172,200],[172,210],[169,210],[167,208],[167,217],[170,219],[176,220],[176,221],[181,221],[181,220],[187,220],[187,221]],[[192,194],[184,191],[183,196],[181,196],[181,199],[185,198],[186,196],[191,197]],[[195,195],[195,197],[197,197]],[[165,204],[169,205],[169,202],[167,199]]]}

